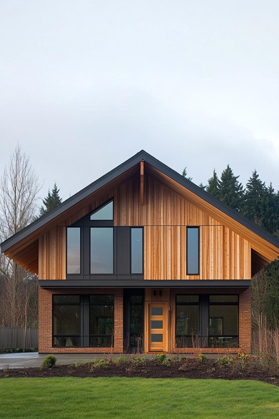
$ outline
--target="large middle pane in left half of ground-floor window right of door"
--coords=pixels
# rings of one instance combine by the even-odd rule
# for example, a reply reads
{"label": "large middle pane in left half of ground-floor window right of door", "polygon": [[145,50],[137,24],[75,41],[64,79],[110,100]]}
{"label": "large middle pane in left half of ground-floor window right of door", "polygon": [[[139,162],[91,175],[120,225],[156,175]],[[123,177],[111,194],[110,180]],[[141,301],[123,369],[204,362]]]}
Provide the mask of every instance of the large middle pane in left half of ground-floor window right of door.
{"label": "large middle pane in left half of ground-floor window right of door", "polygon": [[192,335],[199,331],[199,306],[177,305],[177,335]]}

